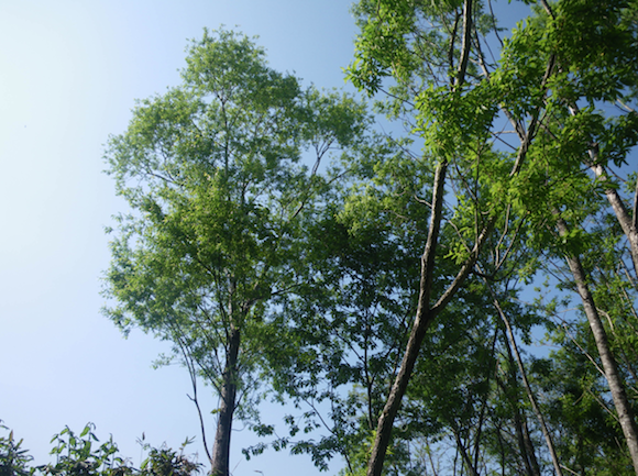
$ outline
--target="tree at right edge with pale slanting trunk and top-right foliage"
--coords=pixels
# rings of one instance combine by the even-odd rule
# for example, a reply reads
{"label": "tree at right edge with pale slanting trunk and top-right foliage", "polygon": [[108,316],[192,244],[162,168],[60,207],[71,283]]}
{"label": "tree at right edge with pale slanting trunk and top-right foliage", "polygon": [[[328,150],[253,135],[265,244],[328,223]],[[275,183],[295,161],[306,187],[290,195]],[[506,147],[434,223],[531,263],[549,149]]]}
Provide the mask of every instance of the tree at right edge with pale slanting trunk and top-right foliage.
{"label": "tree at right edge with pale slanting trunk and top-right foliage", "polygon": [[[543,171],[536,171],[539,189],[547,191],[547,212],[541,214],[554,223],[556,239],[566,245],[562,253],[596,342],[634,471],[638,474],[638,425],[581,261],[586,250],[583,245],[590,241],[585,236],[587,221],[603,206],[603,197],[607,198],[630,248],[635,250],[632,225],[619,196],[612,191],[615,187],[608,179],[601,180],[603,195],[602,187],[593,179],[603,178],[602,170],[606,167],[625,163],[637,143],[636,113],[627,108],[609,112],[609,107],[631,102],[636,96],[638,25],[630,3],[625,1],[605,4],[563,1],[543,7],[544,12],[537,21],[543,23],[547,34],[542,38],[537,33],[535,42],[552,55],[557,75],[551,85],[556,106],[538,136],[542,148],[531,153],[534,162],[546,165]],[[583,44],[591,46],[584,51]],[[547,156],[548,147],[558,152],[556,157]],[[585,174],[583,165],[595,174]],[[531,201],[528,203],[531,206]],[[530,208],[530,213],[538,217],[537,210]],[[551,213],[551,218],[546,213]],[[546,248],[552,246],[557,245],[544,244]]]}

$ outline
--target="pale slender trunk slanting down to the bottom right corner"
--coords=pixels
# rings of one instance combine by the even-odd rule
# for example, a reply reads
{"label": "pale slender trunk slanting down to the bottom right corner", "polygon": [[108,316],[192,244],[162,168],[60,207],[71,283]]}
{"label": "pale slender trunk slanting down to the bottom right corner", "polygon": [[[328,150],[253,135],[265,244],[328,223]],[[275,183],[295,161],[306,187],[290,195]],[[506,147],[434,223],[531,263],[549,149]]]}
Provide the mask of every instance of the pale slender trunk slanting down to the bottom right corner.
{"label": "pale slender trunk slanting down to the bottom right corner", "polygon": [[[565,236],[569,232],[566,223],[562,219],[559,219],[557,224],[561,236]],[[580,258],[578,256],[568,255],[565,259],[574,277],[579,295],[583,302],[585,316],[590,322],[590,328],[592,329],[592,334],[594,335],[594,341],[596,342],[596,347],[603,364],[603,370],[612,392],[612,398],[614,399],[614,407],[618,413],[618,421],[620,422],[625,441],[629,447],[629,455],[631,456],[634,471],[638,476],[638,425],[636,424],[631,407],[629,406],[629,400],[625,392],[625,386],[618,375],[616,359],[609,348],[607,333],[605,332],[605,328],[603,326],[603,322],[598,316],[594,298],[590,292],[585,272]]]}

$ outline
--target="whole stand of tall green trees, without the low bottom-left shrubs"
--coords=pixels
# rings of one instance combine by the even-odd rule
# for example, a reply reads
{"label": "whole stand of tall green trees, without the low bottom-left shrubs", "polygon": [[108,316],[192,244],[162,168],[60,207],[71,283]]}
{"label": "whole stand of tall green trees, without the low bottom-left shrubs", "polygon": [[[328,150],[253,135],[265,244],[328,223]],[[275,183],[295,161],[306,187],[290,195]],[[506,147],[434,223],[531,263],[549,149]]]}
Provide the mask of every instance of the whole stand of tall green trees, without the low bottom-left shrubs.
{"label": "whole stand of tall green trees, without the low bottom-left shrubs", "polygon": [[216,476],[237,420],[344,476],[638,475],[638,3],[352,12],[372,108],[223,29],[139,101],[105,313],[173,344]]}

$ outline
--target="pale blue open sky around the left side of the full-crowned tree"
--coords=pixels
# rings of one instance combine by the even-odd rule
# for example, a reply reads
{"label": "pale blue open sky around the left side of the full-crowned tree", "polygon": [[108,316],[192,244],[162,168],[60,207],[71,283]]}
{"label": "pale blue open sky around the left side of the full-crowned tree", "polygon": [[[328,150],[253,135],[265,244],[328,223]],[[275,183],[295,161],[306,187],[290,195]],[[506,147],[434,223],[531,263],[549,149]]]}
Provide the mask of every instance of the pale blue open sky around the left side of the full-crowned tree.
{"label": "pale blue open sky around the left side of the full-crowned tree", "polygon": [[[6,0],[0,4],[0,419],[36,464],[65,425],[91,421],[140,464],[153,445],[199,444],[186,369],[151,368],[168,344],[122,339],[100,314],[111,215],[125,210],[102,174],[109,134],[124,131],[134,99],[179,82],[187,40],[224,24],[258,35],[271,65],[308,85],[344,87],[355,26],[343,0]],[[352,90],[351,87],[346,87]],[[200,394],[204,394],[200,388]],[[212,398],[202,402],[215,408]],[[279,409],[267,407],[277,414]],[[208,419],[212,440],[215,422]],[[241,430],[242,424],[235,423]],[[0,432],[4,434],[3,432]],[[311,475],[310,460],[266,452],[233,433],[234,476]],[[342,467],[334,461],[328,474]]]}

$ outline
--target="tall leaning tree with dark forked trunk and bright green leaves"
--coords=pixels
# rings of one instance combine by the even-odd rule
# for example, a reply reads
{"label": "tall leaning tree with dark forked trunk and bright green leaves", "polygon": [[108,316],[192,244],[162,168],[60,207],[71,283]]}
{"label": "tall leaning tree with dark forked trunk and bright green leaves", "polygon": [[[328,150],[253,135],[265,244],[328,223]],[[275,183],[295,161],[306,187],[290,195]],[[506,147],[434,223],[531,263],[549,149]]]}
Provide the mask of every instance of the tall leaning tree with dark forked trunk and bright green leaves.
{"label": "tall leaning tree with dark forked trunk and bright green leaves", "polygon": [[[490,129],[497,103],[488,78],[481,79],[470,58],[476,62],[473,46],[477,27],[476,5],[466,0],[426,4],[362,1],[356,7],[362,25],[356,59],[350,71],[355,85],[371,93],[382,87],[382,79],[392,76],[396,82],[389,93],[394,98],[385,107],[391,113],[413,114],[408,122],[418,126],[426,141],[427,155],[435,163],[431,214],[428,237],[420,257],[419,298],[414,325],[400,369],[378,420],[369,475],[382,474],[394,420],[411,378],[424,337],[433,319],[459,291],[479,258],[481,248],[496,220],[505,217],[506,202],[498,200],[488,185],[488,170],[515,177],[525,159],[521,144],[515,160],[494,153]],[[433,33],[426,24],[433,25]],[[483,29],[484,30],[484,29]],[[485,32],[484,32],[485,33]],[[477,63],[477,62],[476,62]],[[534,128],[532,128],[534,130]],[[526,139],[530,141],[531,134]],[[481,174],[479,173],[481,166]],[[455,210],[444,211],[443,195],[457,187]],[[507,176],[506,176],[507,177]],[[491,177],[494,178],[494,177]],[[455,276],[437,297],[432,283],[437,276],[436,258],[444,217],[461,231],[452,244],[458,263]],[[454,223],[455,222],[455,223]],[[507,225],[503,228],[507,230]],[[469,244],[471,243],[471,244]],[[457,253],[458,252],[458,253]]]}

